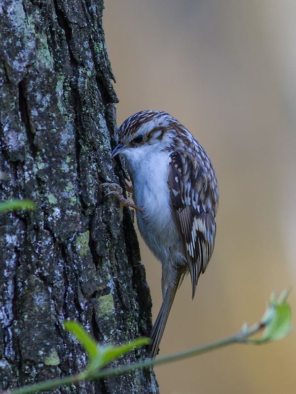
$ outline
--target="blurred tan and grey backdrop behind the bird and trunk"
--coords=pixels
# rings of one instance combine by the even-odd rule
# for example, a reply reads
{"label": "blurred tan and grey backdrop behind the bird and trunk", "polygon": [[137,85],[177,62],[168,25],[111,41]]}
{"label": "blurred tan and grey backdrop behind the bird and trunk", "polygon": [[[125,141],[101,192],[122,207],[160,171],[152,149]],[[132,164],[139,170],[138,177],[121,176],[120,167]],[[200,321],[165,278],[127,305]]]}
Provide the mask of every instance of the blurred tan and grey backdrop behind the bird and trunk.
{"label": "blurred tan and grey backdrop behind the bird and trunk", "polygon": [[[179,289],[160,354],[259,320],[272,291],[296,312],[296,2],[105,0],[118,125],[169,112],[203,145],[220,204],[213,258]],[[141,241],[153,301],[161,267]],[[294,328],[296,321],[294,318]],[[296,335],[155,368],[161,394],[294,394]]]}

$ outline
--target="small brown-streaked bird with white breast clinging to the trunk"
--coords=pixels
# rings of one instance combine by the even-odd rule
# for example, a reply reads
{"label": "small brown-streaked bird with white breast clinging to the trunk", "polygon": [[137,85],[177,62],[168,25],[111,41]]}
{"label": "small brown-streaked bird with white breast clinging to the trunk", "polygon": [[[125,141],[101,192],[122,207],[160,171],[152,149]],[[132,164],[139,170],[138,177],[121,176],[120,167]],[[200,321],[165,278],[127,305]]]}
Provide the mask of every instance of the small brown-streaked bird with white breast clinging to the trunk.
{"label": "small brown-streaked bird with white breast clinging to the trunk", "polygon": [[127,118],[118,130],[111,157],[118,154],[132,181],[134,203],[123,197],[117,184],[109,184],[110,193],[136,209],[140,234],[162,264],[162,305],[148,348],[153,359],[185,274],[191,277],[193,300],[198,278],[212,257],[217,177],[193,135],[162,111],[140,111]]}

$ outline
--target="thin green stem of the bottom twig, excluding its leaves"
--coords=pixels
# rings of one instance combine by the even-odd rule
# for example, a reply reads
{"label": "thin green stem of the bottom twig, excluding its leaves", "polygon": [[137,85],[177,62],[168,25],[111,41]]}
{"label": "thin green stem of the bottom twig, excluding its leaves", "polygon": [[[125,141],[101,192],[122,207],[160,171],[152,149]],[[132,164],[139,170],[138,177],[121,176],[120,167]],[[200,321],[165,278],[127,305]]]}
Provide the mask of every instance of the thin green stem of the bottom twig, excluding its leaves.
{"label": "thin green stem of the bottom twig, excluding its leaves", "polygon": [[81,373],[77,375],[66,376],[64,378],[48,380],[46,382],[37,383],[30,386],[21,387],[19,389],[14,390],[6,390],[1,392],[0,394],[31,394],[37,393],[40,391],[47,391],[51,389],[55,389],[57,387],[63,385],[71,385],[81,382],[85,379],[102,379],[116,375],[122,375],[127,372],[132,372],[136,369],[144,369],[152,367],[153,365],[161,365],[173,361],[180,361],[187,359],[189,357],[198,356],[200,354],[210,352],[215,349],[219,349],[224,346],[231,345],[233,343],[243,343],[247,342],[247,338],[255,333],[257,333],[260,329],[264,328],[265,325],[256,324],[252,328],[249,328],[245,332],[239,331],[233,336],[228,338],[221,339],[217,342],[213,342],[207,345],[198,346],[194,349],[185,350],[180,353],[176,353],[169,356],[158,357],[156,360],[145,360],[140,362],[134,362],[129,365],[123,365],[115,368],[107,368],[103,370],[99,370],[98,372],[88,371],[85,369]]}

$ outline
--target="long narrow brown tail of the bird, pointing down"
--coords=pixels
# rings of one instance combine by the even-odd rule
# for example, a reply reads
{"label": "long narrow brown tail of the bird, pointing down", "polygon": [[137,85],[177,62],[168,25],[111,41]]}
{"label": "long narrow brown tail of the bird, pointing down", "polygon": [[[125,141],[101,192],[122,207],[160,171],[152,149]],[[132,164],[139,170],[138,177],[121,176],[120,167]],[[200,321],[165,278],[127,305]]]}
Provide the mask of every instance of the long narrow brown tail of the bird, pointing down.
{"label": "long narrow brown tail of the bird, pointing down", "polygon": [[159,343],[162,338],[162,334],[166,325],[166,322],[169,317],[169,313],[174,301],[174,298],[176,296],[176,292],[178,289],[178,284],[181,279],[181,275],[178,276],[177,283],[172,284],[171,286],[168,287],[165,296],[162,300],[161,308],[160,311],[157,315],[156,321],[154,323],[154,326],[151,331],[150,335],[150,345],[148,347],[148,352],[150,353],[151,359],[154,359],[154,357],[157,355],[158,348],[159,348]]}

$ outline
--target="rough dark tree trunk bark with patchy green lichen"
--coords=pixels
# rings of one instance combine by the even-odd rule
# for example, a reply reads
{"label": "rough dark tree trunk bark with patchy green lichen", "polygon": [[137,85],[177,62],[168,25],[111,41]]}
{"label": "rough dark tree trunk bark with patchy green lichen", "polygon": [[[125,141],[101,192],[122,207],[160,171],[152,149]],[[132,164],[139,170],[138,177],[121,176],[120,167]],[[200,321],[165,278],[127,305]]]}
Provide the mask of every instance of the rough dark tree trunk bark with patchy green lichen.
{"label": "rough dark tree trunk bark with patchy green lichen", "polygon": [[[32,212],[0,216],[0,388],[80,371],[63,329],[81,322],[119,343],[151,328],[131,213],[100,192],[122,181],[110,158],[116,94],[101,0],[0,0],[0,199]],[[145,356],[135,350],[120,362]],[[116,364],[116,362],[115,362]],[[138,371],[56,393],[158,393]]]}

